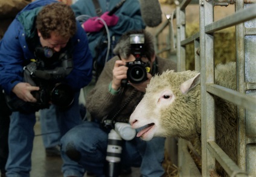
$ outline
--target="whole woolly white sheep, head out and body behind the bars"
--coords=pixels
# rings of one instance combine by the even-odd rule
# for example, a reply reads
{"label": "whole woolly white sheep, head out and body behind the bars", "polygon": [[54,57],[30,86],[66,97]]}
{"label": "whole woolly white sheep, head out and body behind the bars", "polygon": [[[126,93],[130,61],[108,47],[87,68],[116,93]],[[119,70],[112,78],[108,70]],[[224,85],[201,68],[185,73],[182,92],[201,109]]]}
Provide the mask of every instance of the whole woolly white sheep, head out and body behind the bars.
{"label": "whole woolly white sheep, head out and body behind the bars", "polygon": [[[216,84],[235,90],[235,63],[216,66]],[[237,162],[236,106],[219,97],[216,99],[216,143]],[[147,86],[144,98],[130,116],[132,128],[145,126],[137,137],[151,140],[155,136],[180,137],[196,142],[201,153],[200,134],[200,73],[187,70],[167,70],[154,76]],[[216,171],[226,175],[216,164]]]}

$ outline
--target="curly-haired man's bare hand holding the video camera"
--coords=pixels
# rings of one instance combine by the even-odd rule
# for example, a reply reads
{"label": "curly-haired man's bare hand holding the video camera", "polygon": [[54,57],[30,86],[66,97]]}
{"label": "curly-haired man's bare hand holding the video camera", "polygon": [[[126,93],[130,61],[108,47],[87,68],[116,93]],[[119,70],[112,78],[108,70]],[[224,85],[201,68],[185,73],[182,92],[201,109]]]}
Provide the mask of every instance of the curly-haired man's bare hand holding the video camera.
{"label": "curly-haired man's bare hand holding the video camera", "polygon": [[12,92],[25,102],[36,102],[36,98],[31,95],[31,92],[37,90],[39,90],[39,87],[31,86],[26,82],[19,82],[13,87]]}

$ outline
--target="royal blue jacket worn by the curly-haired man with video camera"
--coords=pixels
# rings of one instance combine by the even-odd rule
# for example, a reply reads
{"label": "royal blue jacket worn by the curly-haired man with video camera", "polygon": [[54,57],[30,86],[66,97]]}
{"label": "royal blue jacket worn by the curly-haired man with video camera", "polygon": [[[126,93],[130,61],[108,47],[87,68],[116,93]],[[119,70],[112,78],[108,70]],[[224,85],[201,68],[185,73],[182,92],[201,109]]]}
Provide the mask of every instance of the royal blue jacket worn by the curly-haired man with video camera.
{"label": "royal blue jacket worn by the curly-haired man with video camera", "polygon": [[[17,14],[0,41],[0,85],[8,94],[14,85],[22,82],[24,63],[35,58],[31,41],[38,37],[35,27],[38,12],[44,5],[56,2],[59,3],[54,0],[36,0],[28,4]],[[78,91],[88,85],[92,78],[92,57],[88,39],[79,22],[71,43],[74,67],[66,76],[65,82],[74,91]]]}

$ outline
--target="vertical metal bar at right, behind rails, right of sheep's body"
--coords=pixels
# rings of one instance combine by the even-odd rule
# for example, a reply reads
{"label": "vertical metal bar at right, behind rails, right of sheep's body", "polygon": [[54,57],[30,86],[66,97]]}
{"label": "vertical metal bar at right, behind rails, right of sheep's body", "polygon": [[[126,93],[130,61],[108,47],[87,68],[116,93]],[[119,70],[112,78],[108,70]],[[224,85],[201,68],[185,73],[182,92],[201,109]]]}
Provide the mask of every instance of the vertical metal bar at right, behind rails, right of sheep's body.
{"label": "vertical metal bar at right, behind rails, right of sheep's body", "polygon": [[[243,9],[243,1],[235,2],[235,11]],[[235,26],[235,45],[236,45],[236,63],[237,63],[237,91],[245,93],[245,34],[244,23]],[[238,107],[238,144],[237,144],[237,164],[242,170],[246,170],[246,137],[245,137],[245,109]]]}

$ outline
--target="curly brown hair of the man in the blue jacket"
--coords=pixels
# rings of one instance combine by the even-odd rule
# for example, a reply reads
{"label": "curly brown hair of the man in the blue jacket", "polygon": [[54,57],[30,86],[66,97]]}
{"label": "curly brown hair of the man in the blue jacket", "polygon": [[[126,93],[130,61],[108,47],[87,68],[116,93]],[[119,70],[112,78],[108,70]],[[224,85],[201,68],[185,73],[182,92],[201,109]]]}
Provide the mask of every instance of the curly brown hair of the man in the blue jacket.
{"label": "curly brown hair of the man in the blue jacket", "polygon": [[62,2],[45,5],[37,14],[36,28],[43,39],[49,39],[52,32],[56,36],[70,38],[77,31],[75,14],[69,5]]}

